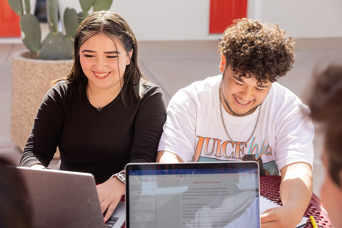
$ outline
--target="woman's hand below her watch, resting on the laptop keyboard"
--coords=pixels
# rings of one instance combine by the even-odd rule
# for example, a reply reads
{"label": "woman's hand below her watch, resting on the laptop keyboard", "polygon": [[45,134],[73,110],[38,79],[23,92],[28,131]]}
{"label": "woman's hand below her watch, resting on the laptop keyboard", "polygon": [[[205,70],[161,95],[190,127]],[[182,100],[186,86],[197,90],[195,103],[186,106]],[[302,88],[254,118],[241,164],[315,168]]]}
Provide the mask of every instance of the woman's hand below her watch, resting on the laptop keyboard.
{"label": "woman's hand below her watch, resting on the laptop keyboard", "polygon": [[115,176],[106,182],[97,185],[96,190],[98,199],[100,200],[102,213],[108,208],[107,213],[103,218],[103,221],[106,222],[110,215],[113,214],[121,196],[125,193],[125,185]]}

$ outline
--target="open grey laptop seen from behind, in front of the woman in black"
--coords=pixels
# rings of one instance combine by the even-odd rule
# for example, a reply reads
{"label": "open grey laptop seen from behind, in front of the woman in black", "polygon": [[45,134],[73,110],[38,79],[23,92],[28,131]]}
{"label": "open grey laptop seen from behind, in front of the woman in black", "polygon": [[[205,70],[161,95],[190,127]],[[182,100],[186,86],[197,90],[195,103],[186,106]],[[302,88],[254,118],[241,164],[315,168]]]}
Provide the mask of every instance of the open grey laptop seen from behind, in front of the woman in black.
{"label": "open grey laptop seen from behind, in front of the woman in black", "polygon": [[35,228],[120,228],[125,222],[124,202],[103,223],[95,178],[90,173],[35,170],[17,167],[29,193]]}

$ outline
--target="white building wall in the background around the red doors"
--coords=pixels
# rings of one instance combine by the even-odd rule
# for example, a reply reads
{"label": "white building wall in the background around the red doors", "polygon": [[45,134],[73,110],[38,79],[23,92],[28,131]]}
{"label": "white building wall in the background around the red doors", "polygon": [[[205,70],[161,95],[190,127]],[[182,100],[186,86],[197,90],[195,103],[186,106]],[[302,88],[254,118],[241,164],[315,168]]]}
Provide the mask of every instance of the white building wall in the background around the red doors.
{"label": "white building wall in the background around the red doors", "polygon": [[[59,0],[81,11],[78,0]],[[210,0],[113,0],[140,41],[217,40],[209,34]],[[341,0],[248,0],[248,17],[278,23],[293,38],[342,37]]]}

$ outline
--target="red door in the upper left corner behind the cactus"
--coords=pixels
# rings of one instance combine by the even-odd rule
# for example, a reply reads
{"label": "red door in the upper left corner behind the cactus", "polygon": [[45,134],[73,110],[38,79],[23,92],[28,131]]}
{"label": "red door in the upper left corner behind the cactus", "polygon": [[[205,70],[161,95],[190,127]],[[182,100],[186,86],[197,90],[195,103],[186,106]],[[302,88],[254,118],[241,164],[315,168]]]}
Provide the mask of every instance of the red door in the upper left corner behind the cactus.
{"label": "red door in the upper left corner behind the cactus", "polygon": [[19,16],[7,0],[0,0],[0,37],[20,37]]}

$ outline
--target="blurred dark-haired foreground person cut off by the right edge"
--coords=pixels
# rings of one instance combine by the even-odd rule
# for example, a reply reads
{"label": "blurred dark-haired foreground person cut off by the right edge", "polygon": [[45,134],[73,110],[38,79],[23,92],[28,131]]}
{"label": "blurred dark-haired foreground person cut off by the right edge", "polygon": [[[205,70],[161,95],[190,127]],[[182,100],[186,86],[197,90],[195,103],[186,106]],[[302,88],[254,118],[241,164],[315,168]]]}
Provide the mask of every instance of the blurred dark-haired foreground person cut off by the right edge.
{"label": "blurred dark-haired foreground person cut off by the right edge", "polygon": [[321,198],[333,226],[342,227],[342,64],[331,64],[315,76],[309,107],[325,133]]}

